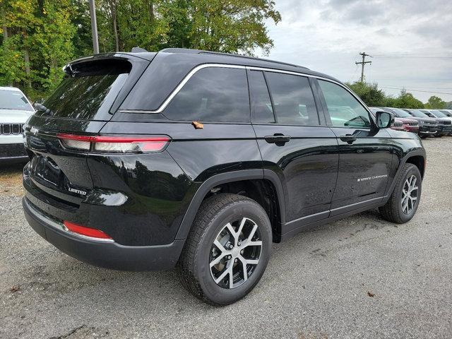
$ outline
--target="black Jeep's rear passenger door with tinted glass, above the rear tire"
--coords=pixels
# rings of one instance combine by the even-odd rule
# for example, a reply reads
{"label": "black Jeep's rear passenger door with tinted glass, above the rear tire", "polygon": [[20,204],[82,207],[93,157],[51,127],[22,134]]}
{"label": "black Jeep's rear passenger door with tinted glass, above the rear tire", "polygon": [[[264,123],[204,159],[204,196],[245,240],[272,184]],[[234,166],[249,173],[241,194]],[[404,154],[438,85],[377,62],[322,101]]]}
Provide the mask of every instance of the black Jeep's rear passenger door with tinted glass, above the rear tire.
{"label": "black Jeep's rear passenger door with tinted glass, above the rear tire", "polygon": [[249,70],[248,76],[251,121],[263,168],[275,172],[283,184],[283,233],[328,218],[338,143],[331,129],[322,126],[309,78],[258,70]]}

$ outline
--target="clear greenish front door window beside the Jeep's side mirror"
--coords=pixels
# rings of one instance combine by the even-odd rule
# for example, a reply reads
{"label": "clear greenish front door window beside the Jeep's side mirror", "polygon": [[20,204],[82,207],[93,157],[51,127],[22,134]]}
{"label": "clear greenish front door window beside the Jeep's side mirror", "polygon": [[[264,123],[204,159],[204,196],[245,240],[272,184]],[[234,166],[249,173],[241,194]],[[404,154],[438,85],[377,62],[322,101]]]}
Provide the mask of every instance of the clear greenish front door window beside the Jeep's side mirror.
{"label": "clear greenish front door window beside the Jeep's side mirror", "polygon": [[345,88],[319,80],[331,123],[335,127],[369,128],[369,113]]}

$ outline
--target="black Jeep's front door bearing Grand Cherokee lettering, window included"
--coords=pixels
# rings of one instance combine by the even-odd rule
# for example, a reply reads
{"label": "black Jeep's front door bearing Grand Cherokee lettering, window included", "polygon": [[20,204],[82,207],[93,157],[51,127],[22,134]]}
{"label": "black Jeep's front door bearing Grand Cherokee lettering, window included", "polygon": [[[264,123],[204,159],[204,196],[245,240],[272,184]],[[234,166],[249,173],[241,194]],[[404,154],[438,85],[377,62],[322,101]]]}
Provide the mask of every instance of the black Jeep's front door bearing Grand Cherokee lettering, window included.
{"label": "black Jeep's front door bearing Grand Cherokee lettering, window included", "polygon": [[385,129],[373,128],[369,111],[349,90],[332,81],[318,83],[327,124],[339,145],[333,216],[381,200],[393,177],[393,143]]}

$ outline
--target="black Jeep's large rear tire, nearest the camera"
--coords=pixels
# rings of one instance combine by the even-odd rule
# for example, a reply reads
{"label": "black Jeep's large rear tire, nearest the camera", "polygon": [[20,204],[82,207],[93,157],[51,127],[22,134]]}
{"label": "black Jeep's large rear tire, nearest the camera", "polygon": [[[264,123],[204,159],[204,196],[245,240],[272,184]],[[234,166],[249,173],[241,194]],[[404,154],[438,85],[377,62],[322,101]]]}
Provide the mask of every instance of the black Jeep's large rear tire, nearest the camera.
{"label": "black Jeep's large rear tire, nearest the camera", "polygon": [[[228,251],[228,242],[221,242],[224,242],[225,238],[234,242],[235,238],[231,237],[232,232],[226,225],[230,223],[235,227],[234,230],[238,231],[237,227],[240,227],[244,219],[246,220],[242,227],[242,240],[240,240],[239,234],[237,237],[239,239],[238,245],[230,250],[232,258],[226,261],[227,256],[223,256],[220,263],[210,268],[211,262],[218,260],[218,257]],[[253,222],[254,225],[258,225],[254,237],[251,234],[251,230],[254,229]],[[225,233],[225,230],[227,230],[227,233]],[[240,232],[235,234],[237,235],[237,233]],[[260,249],[257,245],[246,246],[247,240],[244,238],[246,238],[245,235],[250,234],[251,244],[261,242]],[[225,251],[213,244],[215,239],[219,240]],[[241,242],[244,242],[244,244],[241,244]],[[231,243],[229,244],[232,246]],[[235,194],[211,196],[201,204],[177,264],[182,285],[195,297],[207,304],[221,306],[237,302],[247,295],[261,279],[270,258],[271,244],[270,220],[268,220],[266,211],[256,201]],[[241,250],[240,256],[238,256],[239,250]],[[243,256],[242,252],[244,253]],[[242,259],[240,259],[254,258],[256,260],[257,253],[259,255],[256,265],[243,264]],[[218,254],[218,256],[214,256],[214,254]],[[234,263],[234,258],[237,258],[237,263]],[[240,263],[242,265],[239,265]],[[221,265],[224,265],[223,270],[220,270]],[[237,274],[237,280],[240,279],[237,283],[234,283],[236,281],[234,278],[233,288],[230,288],[229,273],[226,273],[225,278],[219,283],[215,283],[214,280],[214,275],[215,278],[219,279],[225,273],[225,270],[230,267],[228,265],[232,266],[232,270],[235,272],[233,276],[235,277]],[[244,266],[246,267],[246,280],[244,279]],[[248,273],[248,270],[250,273]]]}

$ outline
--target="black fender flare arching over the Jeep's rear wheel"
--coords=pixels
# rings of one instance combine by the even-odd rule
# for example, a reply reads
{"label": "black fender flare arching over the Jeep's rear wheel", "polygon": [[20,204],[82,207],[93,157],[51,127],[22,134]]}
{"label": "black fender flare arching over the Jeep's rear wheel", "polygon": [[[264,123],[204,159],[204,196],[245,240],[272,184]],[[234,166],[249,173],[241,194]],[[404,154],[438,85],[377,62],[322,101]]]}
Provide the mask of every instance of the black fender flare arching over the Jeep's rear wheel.
{"label": "black fender flare arching over the Jeep's rear wheel", "polygon": [[280,220],[281,222],[285,222],[284,192],[278,175],[268,169],[241,169],[234,172],[215,174],[204,181],[201,186],[199,186],[193,198],[191,198],[189,208],[187,208],[184,218],[182,219],[175,240],[186,239],[190,232],[191,225],[193,224],[196,217],[196,213],[198,213],[198,209],[210,189],[213,189],[213,187],[220,184],[226,184],[228,182],[240,182],[250,179],[268,179],[273,184],[273,186],[275,186],[279,204]]}

